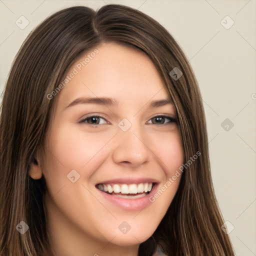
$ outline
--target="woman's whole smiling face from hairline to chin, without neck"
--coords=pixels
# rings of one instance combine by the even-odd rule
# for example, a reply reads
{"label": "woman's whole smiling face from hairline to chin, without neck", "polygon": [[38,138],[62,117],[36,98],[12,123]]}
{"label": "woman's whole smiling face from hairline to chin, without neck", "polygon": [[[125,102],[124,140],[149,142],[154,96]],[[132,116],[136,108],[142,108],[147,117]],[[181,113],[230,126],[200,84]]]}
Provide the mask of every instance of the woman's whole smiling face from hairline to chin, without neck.
{"label": "woman's whole smiling face from hairline to chin, without neck", "polygon": [[94,240],[138,244],[178,188],[181,176],[166,183],[183,163],[175,110],[142,51],[108,42],[91,52],[58,92],[43,170],[48,216]]}

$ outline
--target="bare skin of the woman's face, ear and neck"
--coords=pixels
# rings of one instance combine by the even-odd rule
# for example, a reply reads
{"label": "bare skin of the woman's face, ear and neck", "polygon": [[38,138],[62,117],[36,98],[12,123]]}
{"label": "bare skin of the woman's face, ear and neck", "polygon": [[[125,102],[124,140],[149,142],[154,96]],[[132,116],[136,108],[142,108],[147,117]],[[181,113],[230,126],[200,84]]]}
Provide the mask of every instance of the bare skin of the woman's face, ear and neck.
{"label": "bare skin of the woman's face, ear and neck", "polygon": [[[32,164],[30,176],[44,175],[50,243],[56,255],[137,255],[139,243],[150,237],[170,205],[181,175],[154,202],[140,211],[124,210],[104,199],[95,184],[111,178],[150,177],[159,188],[183,163],[183,148],[172,104],[149,108],[152,100],[168,98],[149,57],[137,49],[103,43],[98,53],[61,89],[49,128],[46,168]],[[70,73],[88,53],[79,58]],[[78,97],[112,97],[119,106],[81,103]],[[79,123],[93,113],[101,116]],[[118,123],[126,118],[131,127]],[[126,125],[126,124],[125,124]],[[72,183],[67,174],[80,177]],[[123,234],[118,226],[131,229]]]}

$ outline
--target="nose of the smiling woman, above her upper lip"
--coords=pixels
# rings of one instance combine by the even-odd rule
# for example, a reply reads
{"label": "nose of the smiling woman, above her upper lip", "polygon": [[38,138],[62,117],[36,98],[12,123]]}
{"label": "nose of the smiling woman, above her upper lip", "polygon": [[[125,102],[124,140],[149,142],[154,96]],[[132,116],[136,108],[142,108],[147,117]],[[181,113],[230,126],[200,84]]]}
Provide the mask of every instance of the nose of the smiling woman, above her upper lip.
{"label": "nose of the smiling woman, above her upper lip", "polygon": [[142,133],[142,130],[135,128],[134,125],[126,131],[118,131],[114,138],[115,146],[112,153],[115,163],[135,167],[152,159],[153,152],[149,140],[146,139],[146,134],[142,136]]}

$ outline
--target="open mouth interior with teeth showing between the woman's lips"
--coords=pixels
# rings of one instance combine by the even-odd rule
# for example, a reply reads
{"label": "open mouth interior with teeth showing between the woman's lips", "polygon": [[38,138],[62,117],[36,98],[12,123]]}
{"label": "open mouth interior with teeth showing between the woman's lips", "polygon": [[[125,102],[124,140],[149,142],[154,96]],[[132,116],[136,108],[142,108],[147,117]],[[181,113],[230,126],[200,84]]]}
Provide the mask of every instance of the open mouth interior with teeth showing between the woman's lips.
{"label": "open mouth interior with teeth showing between the woman's lips", "polygon": [[121,198],[139,198],[146,196],[155,183],[145,182],[139,184],[103,184],[99,183],[96,188]]}

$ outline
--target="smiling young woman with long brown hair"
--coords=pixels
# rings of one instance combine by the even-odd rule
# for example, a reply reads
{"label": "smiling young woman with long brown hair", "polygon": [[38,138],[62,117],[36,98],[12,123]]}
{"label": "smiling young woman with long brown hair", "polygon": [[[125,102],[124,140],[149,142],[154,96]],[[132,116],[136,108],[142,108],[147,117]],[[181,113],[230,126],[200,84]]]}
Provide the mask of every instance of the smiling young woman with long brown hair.
{"label": "smiling young woman with long brown hair", "polygon": [[202,100],[172,36],[123,5],[54,13],[0,118],[0,255],[234,255]]}

